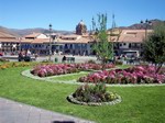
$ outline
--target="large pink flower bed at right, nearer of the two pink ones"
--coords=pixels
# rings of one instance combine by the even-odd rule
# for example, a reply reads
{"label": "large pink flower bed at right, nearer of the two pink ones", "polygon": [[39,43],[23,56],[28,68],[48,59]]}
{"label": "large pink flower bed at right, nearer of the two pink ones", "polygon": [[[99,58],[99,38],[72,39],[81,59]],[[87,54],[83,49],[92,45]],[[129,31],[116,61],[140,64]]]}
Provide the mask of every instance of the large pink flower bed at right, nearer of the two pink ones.
{"label": "large pink flower bed at right, nearer of the two pink ones", "polygon": [[165,69],[155,74],[153,66],[134,66],[128,69],[103,70],[80,77],[79,82],[106,83],[165,83]]}

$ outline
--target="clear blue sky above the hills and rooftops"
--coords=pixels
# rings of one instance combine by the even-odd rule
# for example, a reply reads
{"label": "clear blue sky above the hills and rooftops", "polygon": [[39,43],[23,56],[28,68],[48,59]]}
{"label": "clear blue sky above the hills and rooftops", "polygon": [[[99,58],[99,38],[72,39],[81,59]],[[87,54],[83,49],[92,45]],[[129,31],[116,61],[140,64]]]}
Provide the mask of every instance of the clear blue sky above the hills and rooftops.
{"label": "clear blue sky above the hills and rooftops", "polygon": [[74,31],[84,20],[88,30],[92,16],[112,13],[118,26],[128,26],[141,20],[165,20],[165,0],[0,0],[0,25],[11,29],[47,29]]}

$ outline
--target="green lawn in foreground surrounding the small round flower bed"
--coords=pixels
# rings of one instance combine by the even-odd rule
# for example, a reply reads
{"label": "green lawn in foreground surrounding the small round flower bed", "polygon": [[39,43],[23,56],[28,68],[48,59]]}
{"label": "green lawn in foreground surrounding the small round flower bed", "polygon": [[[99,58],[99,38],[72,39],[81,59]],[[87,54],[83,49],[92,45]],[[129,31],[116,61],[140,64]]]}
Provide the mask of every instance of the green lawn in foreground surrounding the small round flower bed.
{"label": "green lawn in foreground surrounding the small round flower bed", "polygon": [[164,123],[165,86],[109,87],[122,97],[116,105],[87,107],[66,100],[77,85],[54,83],[21,76],[26,68],[0,70],[0,97],[98,123]]}

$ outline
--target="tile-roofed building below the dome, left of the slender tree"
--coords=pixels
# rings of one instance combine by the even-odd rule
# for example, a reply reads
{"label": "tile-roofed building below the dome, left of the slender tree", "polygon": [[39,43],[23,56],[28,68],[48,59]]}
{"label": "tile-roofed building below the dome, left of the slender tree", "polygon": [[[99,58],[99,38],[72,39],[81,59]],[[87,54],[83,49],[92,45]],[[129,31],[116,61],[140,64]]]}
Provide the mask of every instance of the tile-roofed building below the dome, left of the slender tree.
{"label": "tile-roofed building below the dome, left of the slender tree", "polygon": [[55,41],[56,49],[73,55],[91,55],[91,44],[89,35],[63,35]]}

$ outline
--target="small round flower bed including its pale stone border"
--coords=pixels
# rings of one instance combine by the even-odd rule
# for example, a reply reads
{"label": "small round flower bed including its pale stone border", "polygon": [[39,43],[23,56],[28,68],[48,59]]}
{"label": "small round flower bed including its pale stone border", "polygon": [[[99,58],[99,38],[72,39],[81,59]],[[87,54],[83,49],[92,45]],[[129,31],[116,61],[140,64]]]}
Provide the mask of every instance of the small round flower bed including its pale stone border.
{"label": "small round flower bed including its pale stone border", "polygon": [[106,90],[105,83],[80,86],[67,99],[73,103],[84,105],[116,104],[121,102],[120,96]]}

